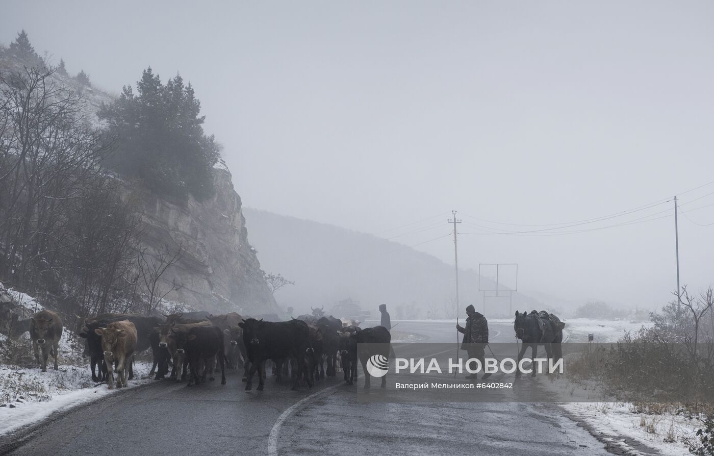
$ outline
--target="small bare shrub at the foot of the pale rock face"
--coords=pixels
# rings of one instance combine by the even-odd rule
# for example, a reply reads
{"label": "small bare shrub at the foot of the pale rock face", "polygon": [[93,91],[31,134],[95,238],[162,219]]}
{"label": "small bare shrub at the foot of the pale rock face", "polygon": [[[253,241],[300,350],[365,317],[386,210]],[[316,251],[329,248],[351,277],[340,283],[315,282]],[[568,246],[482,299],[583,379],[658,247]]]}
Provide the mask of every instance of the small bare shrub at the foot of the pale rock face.
{"label": "small bare shrub at the foot of the pale rock face", "polygon": [[171,280],[171,286],[169,286],[168,290],[161,286],[160,280],[166,270],[178,263],[178,260],[181,260],[185,252],[186,249],[183,248],[183,245],[178,245],[178,249],[172,252],[169,245],[166,244],[162,245],[161,250],[156,255],[151,255],[146,248],[139,250],[137,269],[139,270],[139,280],[143,285],[142,288],[144,288],[145,300],[143,307],[146,315],[151,315],[159,306],[161,300],[166,298],[166,295],[181,289],[182,285],[176,283],[176,279]]}

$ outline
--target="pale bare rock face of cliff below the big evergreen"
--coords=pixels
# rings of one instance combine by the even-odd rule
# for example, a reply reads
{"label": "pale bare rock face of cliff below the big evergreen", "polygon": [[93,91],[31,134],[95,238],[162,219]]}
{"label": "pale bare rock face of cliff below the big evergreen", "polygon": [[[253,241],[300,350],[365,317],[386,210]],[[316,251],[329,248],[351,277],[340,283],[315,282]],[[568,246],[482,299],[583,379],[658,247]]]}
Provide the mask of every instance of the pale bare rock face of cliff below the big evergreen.
{"label": "pale bare rock face of cliff below the big evergreen", "polygon": [[[161,277],[166,296],[196,310],[212,313],[274,313],[275,300],[261,273],[255,249],[248,244],[241,197],[233,190],[225,166],[213,168],[216,194],[207,201],[173,201],[124,186],[144,221],[143,243],[156,258],[164,246],[172,253],[185,249],[180,260]],[[162,293],[163,294],[163,293]]]}

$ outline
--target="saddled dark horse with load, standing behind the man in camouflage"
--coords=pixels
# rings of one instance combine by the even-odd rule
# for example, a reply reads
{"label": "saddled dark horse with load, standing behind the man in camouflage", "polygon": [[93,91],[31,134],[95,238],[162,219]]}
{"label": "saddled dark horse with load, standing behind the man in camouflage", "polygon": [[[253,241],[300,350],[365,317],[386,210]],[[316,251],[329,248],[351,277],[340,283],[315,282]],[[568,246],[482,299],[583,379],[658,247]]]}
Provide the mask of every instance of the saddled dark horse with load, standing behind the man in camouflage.
{"label": "saddled dark horse with load, standing behind the man in camouflage", "polygon": [[[516,331],[516,338],[521,339],[523,345],[518,351],[518,366],[526,353],[526,349],[531,347],[531,359],[535,360],[538,353],[538,345],[545,346],[545,353],[549,359],[554,361],[563,358],[563,350],[560,346],[563,343],[563,328],[565,323],[552,313],[542,310],[531,313],[518,313],[516,310],[516,320],[513,320],[513,330]],[[516,369],[516,378],[521,377],[521,369]],[[535,377],[535,369],[531,373]]]}

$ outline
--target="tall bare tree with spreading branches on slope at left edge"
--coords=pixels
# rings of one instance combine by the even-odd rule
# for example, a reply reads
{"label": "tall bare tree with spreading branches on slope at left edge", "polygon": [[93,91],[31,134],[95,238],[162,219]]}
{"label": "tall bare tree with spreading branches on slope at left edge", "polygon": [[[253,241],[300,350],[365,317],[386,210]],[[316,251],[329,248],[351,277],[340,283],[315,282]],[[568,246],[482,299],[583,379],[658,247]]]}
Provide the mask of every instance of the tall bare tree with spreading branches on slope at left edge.
{"label": "tall bare tree with spreading branches on slope at left edge", "polygon": [[100,165],[111,147],[53,73],[0,74],[0,273],[20,287],[76,244],[72,208],[107,180]]}

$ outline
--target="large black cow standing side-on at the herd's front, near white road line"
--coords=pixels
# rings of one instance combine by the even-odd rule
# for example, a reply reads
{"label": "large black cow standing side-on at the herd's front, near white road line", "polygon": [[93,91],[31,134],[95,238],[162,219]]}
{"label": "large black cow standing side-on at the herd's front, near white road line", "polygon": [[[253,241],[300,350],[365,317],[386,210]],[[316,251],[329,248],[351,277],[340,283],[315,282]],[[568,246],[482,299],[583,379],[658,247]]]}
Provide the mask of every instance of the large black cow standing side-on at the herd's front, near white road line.
{"label": "large black cow standing side-on at the herd's front, near white road line", "polygon": [[[313,382],[306,360],[312,356],[310,347],[310,330],[307,323],[301,320],[269,322],[248,318],[238,323],[243,330],[243,343],[246,345],[248,360],[251,363],[246,382],[246,391],[253,388],[253,374],[259,371],[260,382],[258,391],[263,390],[265,378],[265,360],[280,363],[281,360],[295,360],[293,390],[305,376],[306,382],[312,387]],[[280,365],[278,365],[280,372]]]}

